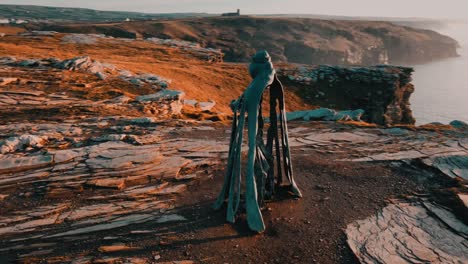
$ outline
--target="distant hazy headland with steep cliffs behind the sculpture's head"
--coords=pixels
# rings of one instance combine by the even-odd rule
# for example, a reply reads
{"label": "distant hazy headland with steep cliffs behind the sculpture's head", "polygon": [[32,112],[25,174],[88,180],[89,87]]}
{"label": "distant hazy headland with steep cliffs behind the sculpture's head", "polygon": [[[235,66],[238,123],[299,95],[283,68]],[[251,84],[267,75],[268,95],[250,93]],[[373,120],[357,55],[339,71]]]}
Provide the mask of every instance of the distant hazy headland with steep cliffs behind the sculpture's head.
{"label": "distant hazy headland with steep cliffs behind the sculpture's head", "polygon": [[86,24],[34,24],[29,29],[162,38],[221,49],[230,62],[248,62],[266,49],[275,62],[417,64],[457,56],[457,42],[430,30],[390,22],[278,17],[209,17]]}

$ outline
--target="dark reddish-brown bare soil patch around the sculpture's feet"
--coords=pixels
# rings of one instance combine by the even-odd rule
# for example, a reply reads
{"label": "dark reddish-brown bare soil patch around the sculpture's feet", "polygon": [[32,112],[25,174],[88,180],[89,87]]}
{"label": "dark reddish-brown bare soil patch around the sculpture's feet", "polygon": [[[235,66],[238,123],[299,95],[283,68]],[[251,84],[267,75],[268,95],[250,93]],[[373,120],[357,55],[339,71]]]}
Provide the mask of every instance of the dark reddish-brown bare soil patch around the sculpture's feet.
{"label": "dark reddish-brown bare soil patch around the sculpture's feet", "polygon": [[294,165],[302,199],[270,202],[263,212],[264,234],[248,231],[243,219],[226,224],[224,213],[210,208],[223,181],[189,189],[183,204],[191,222],[160,247],[166,260],[201,263],[357,263],[343,229],[366,218],[395,198],[423,186],[383,164],[330,162],[330,157],[295,153]]}

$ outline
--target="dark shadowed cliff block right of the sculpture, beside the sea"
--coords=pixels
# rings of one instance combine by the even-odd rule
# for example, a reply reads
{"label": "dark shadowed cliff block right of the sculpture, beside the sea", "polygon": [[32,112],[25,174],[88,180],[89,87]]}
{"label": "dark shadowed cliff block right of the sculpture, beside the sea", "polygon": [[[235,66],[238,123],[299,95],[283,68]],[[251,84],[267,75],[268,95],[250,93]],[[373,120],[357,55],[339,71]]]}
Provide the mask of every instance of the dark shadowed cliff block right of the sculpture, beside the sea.
{"label": "dark shadowed cliff block right of the sculpture, beside the sea", "polygon": [[414,124],[409,98],[412,68],[316,66],[278,71],[285,84],[299,87],[308,103],[364,110],[363,120],[380,125]]}

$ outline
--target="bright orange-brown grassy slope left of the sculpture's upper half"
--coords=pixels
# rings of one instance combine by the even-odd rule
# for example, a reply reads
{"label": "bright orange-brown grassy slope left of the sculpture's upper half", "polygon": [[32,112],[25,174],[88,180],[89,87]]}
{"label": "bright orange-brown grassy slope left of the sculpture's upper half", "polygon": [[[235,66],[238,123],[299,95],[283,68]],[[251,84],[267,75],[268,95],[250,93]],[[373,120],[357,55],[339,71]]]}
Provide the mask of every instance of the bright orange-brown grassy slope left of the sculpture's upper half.
{"label": "bright orange-brown grassy slope left of the sculpture's upper half", "polygon": [[[135,73],[151,73],[171,79],[169,89],[184,91],[187,99],[196,99],[201,102],[214,100],[216,102],[214,112],[231,113],[229,103],[236,99],[251,81],[246,64],[210,63],[194,57],[189,51],[140,40],[125,42],[101,39],[93,45],[65,44],[62,43],[63,36],[64,34],[57,34],[54,37],[7,35],[0,41],[0,57],[68,59],[88,55],[100,62],[113,64],[119,69]],[[136,89],[119,80],[97,82],[94,76],[84,80],[87,81],[85,83],[93,84],[91,88],[73,87],[67,84],[76,80],[80,82],[83,80],[82,75],[66,72],[43,73],[43,75],[48,74],[57,75],[61,83],[57,88],[48,87],[47,92],[66,92],[73,96],[93,100],[109,99],[122,94],[131,97],[151,93],[148,89]],[[0,77],[4,76],[21,77],[12,73],[0,75]],[[52,79],[57,80],[57,76],[52,76]],[[39,76],[30,76],[31,79],[35,77]],[[307,105],[294,91],[294,89],[286,89],[288,110],[310,109],[311,106]]]}

